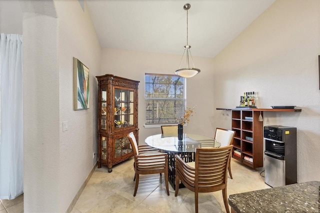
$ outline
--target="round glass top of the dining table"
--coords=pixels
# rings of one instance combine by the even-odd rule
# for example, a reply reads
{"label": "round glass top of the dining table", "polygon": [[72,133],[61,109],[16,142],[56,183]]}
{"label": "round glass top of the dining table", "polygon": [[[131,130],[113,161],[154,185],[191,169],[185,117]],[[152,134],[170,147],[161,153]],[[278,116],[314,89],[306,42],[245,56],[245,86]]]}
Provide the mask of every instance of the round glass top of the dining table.
{"label": "round glass top of the dining table", "polygon": [[154,148],[164,151],[195,152],[196,148],[217,148],[220,143],[212,137],[199,134],[183,134],[183,139],[178,140],[177,136],[163,136],[155,134],[145,138],[145,143]]}

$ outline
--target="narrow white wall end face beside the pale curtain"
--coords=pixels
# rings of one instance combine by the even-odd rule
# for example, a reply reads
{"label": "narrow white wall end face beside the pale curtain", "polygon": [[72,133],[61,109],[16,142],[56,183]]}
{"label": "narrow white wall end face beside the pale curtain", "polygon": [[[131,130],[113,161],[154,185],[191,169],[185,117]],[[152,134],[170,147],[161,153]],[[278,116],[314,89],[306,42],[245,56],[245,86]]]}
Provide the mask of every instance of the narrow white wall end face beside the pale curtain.
{"label": "narrow white wall end face beside the pale curtain", "polygon": [[[43,6],[52,8],[53,4]],[[59,71],[56,29],[55,17],[32,12],[23,14],[25,212],[58,211]]]}

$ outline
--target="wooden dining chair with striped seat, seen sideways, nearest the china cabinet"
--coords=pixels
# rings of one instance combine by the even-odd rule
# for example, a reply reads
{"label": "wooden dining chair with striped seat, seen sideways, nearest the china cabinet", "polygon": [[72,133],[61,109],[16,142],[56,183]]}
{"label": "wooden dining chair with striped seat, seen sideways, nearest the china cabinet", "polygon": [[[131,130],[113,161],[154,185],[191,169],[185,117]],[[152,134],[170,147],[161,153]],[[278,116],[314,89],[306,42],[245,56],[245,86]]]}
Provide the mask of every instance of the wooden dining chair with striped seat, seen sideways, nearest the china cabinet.
{"label": "wooden dining chair with striped seat, seen sideways, nearest the china cabinet", "polygon": [[155,174],[164,173],[164,181],[166,193],[169,195],[168,185],[168,157],[167,153],[161,153],[158,151],[141,151],[136,143],[133,132],[127,135],[133,150],[134,155],[134,178],[135,186],[133,196],[135,196],[139,184],[139,174]]}

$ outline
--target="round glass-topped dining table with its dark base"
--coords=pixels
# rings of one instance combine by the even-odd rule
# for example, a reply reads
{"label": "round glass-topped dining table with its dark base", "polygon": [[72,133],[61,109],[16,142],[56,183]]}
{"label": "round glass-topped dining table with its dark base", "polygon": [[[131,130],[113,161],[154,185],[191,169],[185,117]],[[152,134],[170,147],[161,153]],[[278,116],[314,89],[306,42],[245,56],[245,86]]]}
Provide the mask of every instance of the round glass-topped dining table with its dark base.
{"label": "round glass-topped dining table with its dark base", "polygon": [[[154,148],[159,149],[168,155],[168,177],[169,182],[175,188],[175,154],[191,162],[195,159],[196,148],[217,148],[221,143],[213,137],[183,133],[182,140],[178,140],[177,135],[155,134],[145,138],[144,142]],[[179,187],[183,187],[181,183]]]}

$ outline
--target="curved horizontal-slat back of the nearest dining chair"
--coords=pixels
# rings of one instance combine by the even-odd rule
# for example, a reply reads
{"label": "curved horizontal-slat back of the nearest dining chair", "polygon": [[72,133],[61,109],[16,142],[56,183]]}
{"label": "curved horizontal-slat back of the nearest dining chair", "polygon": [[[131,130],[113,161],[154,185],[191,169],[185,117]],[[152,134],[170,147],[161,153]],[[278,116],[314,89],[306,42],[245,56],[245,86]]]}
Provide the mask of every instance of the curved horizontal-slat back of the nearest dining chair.
{"label": "curved horizontal-slat back of the nearest dining chair", "polygon": [[195,151],[195,186],[224,185],[233,145],[220,148],[197,148]]}

